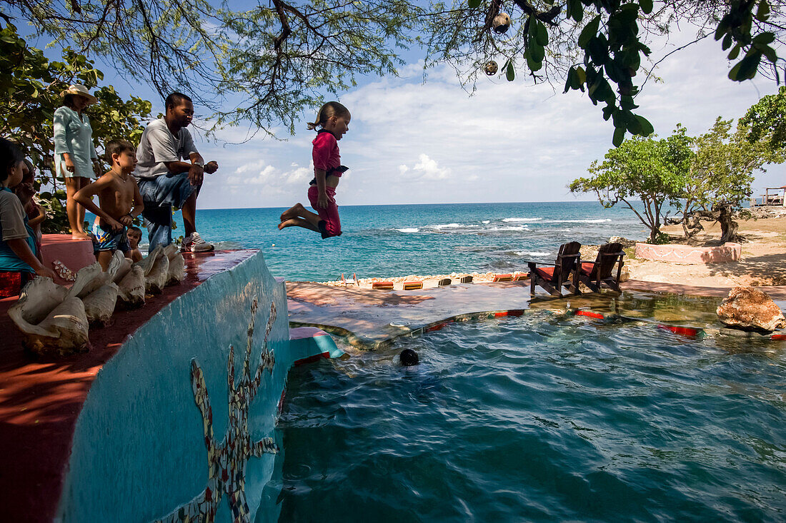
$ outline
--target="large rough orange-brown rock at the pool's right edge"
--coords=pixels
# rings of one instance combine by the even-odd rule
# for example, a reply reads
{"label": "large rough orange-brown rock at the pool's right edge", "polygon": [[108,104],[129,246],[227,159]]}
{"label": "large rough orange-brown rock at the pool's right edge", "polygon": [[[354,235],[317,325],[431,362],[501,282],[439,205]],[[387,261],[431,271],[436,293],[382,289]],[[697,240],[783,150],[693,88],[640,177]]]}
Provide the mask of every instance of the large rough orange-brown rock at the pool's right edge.
{"label": "large rough orange-brown rock at the pool's right edge", "polygon": [[772,298],[753,287],[734,287],[715,312],[729,327],[762,331],[786,327],[786,318]]}

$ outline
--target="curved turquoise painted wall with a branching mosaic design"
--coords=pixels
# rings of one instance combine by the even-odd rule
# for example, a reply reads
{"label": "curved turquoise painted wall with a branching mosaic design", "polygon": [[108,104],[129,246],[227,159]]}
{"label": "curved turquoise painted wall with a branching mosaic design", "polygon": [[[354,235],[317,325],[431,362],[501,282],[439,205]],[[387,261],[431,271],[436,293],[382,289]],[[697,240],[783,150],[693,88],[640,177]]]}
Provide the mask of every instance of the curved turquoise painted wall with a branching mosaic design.
{"label": "curved turquoise painted wall with a branching mosaic design", "polygon": [[[324,350],[314,344],[314,353]],[[215,512],[215,521],[254,521],[259,510],[276,518],[277,490],[265,485],[276,482],[274,467],[280,474],[273,452],[281,442],[266,438],[276,437],[302,343],[295,352],[284,283],[261,253],[176,299],[99,371],[76,425],[59,517],[183,521]]]}

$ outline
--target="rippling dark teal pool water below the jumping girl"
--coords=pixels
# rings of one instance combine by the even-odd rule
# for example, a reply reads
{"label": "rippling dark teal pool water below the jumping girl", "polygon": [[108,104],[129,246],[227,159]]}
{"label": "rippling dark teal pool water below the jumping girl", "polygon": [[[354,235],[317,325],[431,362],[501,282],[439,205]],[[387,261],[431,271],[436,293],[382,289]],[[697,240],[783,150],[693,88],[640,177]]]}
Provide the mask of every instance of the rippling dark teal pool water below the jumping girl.
{"label": "rippling dark teal pool water below the jumping girl", "polygon": [[783,521],[784,350],[532,311],[293,368],[280,521]]}

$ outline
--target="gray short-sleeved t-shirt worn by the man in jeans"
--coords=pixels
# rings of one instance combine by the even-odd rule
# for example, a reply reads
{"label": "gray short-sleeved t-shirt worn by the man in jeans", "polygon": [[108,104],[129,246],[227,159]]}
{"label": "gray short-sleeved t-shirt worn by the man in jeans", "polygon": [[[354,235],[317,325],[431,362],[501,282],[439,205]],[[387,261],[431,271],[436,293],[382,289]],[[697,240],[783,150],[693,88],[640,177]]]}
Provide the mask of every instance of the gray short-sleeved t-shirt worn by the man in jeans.
{"label": "gray short-sleeved t-shirt worn by the man in jeans", "polygon": [[191,133],[185,127],[174,136],[161,118],[152,121],[145,131],[137,148],[137,168],[134,176],[141,180],[151,180],[161,174],[167,174],[167,162],[188,160],[189,155],[196,152]]}

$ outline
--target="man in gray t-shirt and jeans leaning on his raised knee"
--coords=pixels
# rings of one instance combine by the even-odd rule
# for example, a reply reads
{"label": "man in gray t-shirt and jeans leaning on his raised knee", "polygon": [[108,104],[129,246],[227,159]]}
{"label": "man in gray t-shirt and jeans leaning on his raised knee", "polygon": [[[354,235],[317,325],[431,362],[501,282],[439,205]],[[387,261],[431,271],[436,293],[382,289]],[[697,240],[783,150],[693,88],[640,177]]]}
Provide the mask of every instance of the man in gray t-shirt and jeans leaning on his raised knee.
{"label": "man in gray t-shirt and jeans leaning on his raised knee", "polygon": [[145,203],[142,217],[148,228],[149,251],[157,245],[172,243],[173,206],[183,211],[182,251],[212,251],[214,247],[196,232],[196,198],[204,173],[215,173],[219,164],[204,163],[191,133],[185,128],[194,115],[191,98],[183,93],[171,93],[165,105],[166,115],[151,122],[142,133],[134,172]]}

